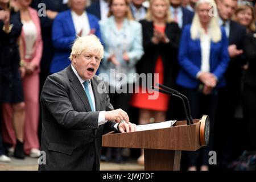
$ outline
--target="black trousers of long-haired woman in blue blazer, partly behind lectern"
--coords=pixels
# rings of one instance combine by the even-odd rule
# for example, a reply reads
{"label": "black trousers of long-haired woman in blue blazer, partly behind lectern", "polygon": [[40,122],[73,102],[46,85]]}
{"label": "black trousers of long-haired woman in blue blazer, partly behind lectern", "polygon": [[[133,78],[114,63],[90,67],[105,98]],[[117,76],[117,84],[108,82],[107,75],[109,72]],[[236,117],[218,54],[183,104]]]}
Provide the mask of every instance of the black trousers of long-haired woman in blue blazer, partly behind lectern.
{"label": "black trousers of long-haired woman in blue blazer, partly behind lectern", "polygon": [[183,93],[188,97],[190,106],[191,106],[191,114],[193,119],[201,118],[203,115],[208,115],[210,118],[210,139],[209,144],[206,147],[200,148],[197,151],[188,151],[185,152],[187,154],[188,163],[187,166],[197,166],[199,164],[208,166],[209,159],[209,151],[212,150],[213,146],[213,129],[214,129],[214,117],[217,108],[217,98],[218,92],[214,90],[214,92],[208,96],[204,95],[197,91],[197,89],[187,89],[183,88]]}

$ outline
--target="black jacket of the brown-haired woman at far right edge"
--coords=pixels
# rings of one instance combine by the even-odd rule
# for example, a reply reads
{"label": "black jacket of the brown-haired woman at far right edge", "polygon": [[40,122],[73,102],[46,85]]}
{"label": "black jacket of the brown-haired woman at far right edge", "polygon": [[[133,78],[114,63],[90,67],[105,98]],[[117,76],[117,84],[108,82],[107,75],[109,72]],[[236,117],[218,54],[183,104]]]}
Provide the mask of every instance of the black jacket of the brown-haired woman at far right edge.
{"label": "black jacket of the brown-haired woman at far right edge", "polygon": [[245,36],[245,56],[249,67],[245,73],[245,83],[256,86],[256,31]]}

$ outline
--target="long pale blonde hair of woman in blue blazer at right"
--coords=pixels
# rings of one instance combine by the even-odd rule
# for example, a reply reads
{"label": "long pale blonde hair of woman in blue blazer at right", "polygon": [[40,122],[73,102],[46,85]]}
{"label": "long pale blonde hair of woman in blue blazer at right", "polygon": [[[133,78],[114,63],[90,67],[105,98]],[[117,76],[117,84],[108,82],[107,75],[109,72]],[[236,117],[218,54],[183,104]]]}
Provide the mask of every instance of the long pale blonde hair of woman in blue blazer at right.
{"label": "long pale blonde hair of woman in blue blazer at right", "polygon": [[192,20],[190,32],[191,32],[191,38],[193,40],[199,39],[201,35],[203,34],[203,28],[200,23],[199,15],[197,14],[197,8],[201,3],[209,3],[209,6],[213,8],[213,16],[210,18],[209,22],[209,34],[210,38],[214,43],[219,42],[221,40],[221,29],[218,24],[218,16],[217,16],[217,8],[216,8],[216,3],[214,0],[199,0],[196,2],[195,6],[195,15]]}

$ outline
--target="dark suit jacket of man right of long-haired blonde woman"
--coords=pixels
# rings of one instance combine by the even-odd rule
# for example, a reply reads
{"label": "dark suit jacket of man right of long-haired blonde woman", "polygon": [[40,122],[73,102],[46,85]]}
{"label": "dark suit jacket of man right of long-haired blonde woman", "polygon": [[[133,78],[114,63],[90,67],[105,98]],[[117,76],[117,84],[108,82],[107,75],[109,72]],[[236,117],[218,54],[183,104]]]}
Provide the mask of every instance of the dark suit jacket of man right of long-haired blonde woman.
{"label": "dark suit jacket of man right of long-haired blonde woman", "polygon": [[[235,44],[237,49],[243,49],[246,28],[237,22],[230,21],[229,45]],[[242,65],[246,64],[245,55],[230,59],[228,69],[225,73],[227,82],[237,82],[242,77]],[[239,84],[239,82],[238,82]]]}

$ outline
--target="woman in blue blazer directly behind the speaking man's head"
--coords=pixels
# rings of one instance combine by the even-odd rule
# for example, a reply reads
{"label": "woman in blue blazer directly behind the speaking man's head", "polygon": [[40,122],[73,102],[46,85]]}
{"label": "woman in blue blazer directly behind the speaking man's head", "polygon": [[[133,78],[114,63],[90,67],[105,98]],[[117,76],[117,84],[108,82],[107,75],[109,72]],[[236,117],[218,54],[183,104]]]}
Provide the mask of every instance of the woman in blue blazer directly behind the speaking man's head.
{"label": "woman in blue blazer directly behind the speaking man's head", "polygon": [[59,13],[53,22],[52,42],[55,53],[50,73],[59,72],[71,63],[68,57],[77,35],[95,34],[101,39],[98,19],[85,11],[87,0],[69,0],[68,3],[71,9]]}

